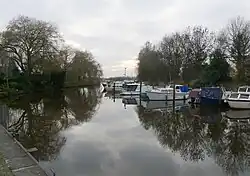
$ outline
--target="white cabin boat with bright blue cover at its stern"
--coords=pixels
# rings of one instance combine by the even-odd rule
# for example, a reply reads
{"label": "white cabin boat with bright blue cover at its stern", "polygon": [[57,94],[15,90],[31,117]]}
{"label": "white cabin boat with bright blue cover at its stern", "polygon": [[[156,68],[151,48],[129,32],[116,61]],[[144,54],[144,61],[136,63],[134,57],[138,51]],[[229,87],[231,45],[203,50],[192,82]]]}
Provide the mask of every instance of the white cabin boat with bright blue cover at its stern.
{"label": "white cabin boat with bright blue cover at its stern", "polygon": [[[182,92],[181,87],[183,85],[175,85],[175,100],[188,99],[189,92]],[[146,91],[148,99],[150,101],[170,101],[173,100],[173,85],[166,88],[157,88],[151,91]]]}

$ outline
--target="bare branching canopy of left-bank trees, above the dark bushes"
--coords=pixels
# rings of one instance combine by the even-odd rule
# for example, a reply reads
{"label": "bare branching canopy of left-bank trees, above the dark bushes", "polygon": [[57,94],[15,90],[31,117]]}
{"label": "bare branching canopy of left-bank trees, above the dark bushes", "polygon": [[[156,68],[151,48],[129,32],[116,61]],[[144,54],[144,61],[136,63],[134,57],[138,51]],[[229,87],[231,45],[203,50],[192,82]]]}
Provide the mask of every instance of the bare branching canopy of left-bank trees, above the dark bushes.
{"label": "bare branching canopy of left-bank trees, above the dark bushes", "polygon": [[72,71],[76,53],[82,53],[77,59],[81,59],[85,65],[80,71],[74,72],[102,76],[101,67],[92,54],[67,46],[52,23],[19,16],[9,22],[0,37],[0,52],[4,52],[6,56],[1,60],[14,62],[17,69],[27,76],[53,71]]}

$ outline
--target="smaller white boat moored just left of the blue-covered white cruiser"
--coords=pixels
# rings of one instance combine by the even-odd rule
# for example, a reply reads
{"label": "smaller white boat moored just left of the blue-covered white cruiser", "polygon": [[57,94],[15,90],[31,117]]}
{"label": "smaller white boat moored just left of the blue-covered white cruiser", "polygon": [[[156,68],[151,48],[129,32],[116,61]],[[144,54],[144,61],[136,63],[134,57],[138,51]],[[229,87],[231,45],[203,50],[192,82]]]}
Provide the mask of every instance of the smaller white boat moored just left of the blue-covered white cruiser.
{"label": "smaller white boat moored just left of the blue-covered white cruiser", "polygon": [[[140,83],[132,83],[127,84],[125,91],[122,92],[120,95],[122,96],[139,96],[141,93],[145,93],[146,91],[152,90],[152,86],[142,84],[140,90]],[[141,92],[140,92],[141,91]]]}

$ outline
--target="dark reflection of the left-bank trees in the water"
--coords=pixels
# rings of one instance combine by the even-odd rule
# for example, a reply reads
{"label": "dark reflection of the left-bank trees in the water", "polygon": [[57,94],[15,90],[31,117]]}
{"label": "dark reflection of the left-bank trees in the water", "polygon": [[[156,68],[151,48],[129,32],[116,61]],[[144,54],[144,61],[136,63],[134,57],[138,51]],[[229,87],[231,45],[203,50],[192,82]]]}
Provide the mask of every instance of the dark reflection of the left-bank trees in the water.
{"label": "dark reflection of the left-bank trees in the water", "polygon": [[26,147],[37,148],[38,161],[55,159],[66,138],[60,134],[89,121],[100,103],[95,89],[67,89],[53,95],[36,94],[5,100],[14,119],[6,128]]}

